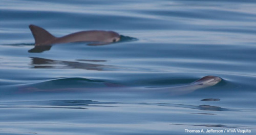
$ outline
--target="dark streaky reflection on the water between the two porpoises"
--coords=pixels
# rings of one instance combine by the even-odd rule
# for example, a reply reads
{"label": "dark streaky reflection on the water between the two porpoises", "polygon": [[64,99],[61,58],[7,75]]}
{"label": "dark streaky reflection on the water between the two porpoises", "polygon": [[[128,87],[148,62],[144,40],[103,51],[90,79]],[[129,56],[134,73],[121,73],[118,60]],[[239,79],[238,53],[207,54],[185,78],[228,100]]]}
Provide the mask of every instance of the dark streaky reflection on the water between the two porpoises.
{"label": "dark streaky reflection on the water between the two porpoises", "polygon": [[[104,64],[52,60],[52,59],[37,58],[37,57],[30,57],[30,58],[32,60],[31,65],[33,69],[83,69],[83,70],[104,71],[106,69],[115,68],[112,65],[104,65]],[[78,61],[104,62],[106,60],[81,60],[80,59]]]}

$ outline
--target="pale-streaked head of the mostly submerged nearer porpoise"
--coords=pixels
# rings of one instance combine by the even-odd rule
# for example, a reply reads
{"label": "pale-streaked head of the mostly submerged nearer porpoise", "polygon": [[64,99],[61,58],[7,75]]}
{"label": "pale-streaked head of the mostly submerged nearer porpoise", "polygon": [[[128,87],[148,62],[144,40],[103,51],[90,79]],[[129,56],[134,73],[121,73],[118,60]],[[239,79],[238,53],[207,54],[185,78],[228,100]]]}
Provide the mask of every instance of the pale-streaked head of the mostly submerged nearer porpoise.
{"label": "pale-streaked head of the mostly submerged nearer porpoise", "polygon": [[194,84],[201,85],[203,87],[213,86],[219,83],[222,79],[218,76],[205,76],[197,81]]}

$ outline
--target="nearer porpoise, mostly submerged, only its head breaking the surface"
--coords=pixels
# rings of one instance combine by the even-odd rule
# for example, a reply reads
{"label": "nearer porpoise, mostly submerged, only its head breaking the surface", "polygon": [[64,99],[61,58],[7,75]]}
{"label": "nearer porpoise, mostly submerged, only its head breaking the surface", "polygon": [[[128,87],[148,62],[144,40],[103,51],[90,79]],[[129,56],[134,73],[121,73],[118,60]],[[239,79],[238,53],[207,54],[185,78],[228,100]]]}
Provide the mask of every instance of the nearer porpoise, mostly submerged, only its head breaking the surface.
{"label": "nearer porpoise, mostly submerged, only its head breaking the surface", "polygon": [[[71,87],[71,88],[52,88],[52,89],[44,89],[40,87],[28,87],[28,88],[21,88],[19,89],[22,93],[28,92],[65,92],[65,91],[72,91],[72,92],[88,92],[88,93],[133,93],[133,94],[165,94],[168,96],[175,96],[175,95],[184,95],[199,88],[209,87],[216,85],[222,79],[217,76],[205,76],[195,82],[190,84],[180,85],[180,86],[168,86],[168,87],[125,87],[125,86],[117,86],[109,83],[104,83],[108,87]],[[146,92],[146,93],[145,93]]]}

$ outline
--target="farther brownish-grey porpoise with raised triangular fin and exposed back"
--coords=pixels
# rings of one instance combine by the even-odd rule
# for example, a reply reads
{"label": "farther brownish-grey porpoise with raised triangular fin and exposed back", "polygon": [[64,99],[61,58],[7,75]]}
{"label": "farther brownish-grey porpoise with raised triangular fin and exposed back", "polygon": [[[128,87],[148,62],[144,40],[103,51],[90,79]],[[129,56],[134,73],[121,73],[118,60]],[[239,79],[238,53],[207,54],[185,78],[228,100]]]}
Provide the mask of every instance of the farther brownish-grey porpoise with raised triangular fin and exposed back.
{"label": "farther brownish-grey porpoise with raised triangular fin and exposed back", "polygon": [[38,26],[29,25],[29,28],[35,38],[35,46],[82,41],[111,43],[120,40],[120,35],[114,31],[80,31],[62,37],[55,37]]}

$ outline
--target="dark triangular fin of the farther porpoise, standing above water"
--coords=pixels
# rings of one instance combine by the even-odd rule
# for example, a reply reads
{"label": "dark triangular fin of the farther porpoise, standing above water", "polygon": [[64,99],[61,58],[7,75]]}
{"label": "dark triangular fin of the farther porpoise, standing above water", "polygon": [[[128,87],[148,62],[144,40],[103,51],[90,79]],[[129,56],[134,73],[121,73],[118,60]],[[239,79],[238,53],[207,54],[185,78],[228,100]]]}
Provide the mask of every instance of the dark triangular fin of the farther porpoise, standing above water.
{"label": "dark triangular fin of the farther porpoise, standing above water", "polygon": [[56,37],[51,33],[35,25],[29,25],[29,28],[35,38],[35,46],[50,44]]}

